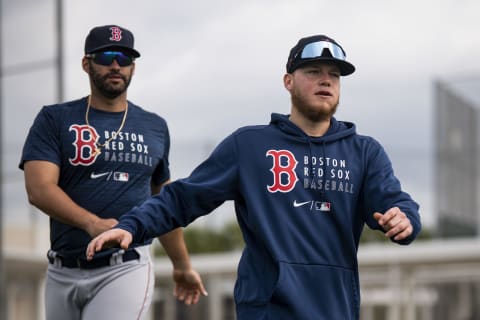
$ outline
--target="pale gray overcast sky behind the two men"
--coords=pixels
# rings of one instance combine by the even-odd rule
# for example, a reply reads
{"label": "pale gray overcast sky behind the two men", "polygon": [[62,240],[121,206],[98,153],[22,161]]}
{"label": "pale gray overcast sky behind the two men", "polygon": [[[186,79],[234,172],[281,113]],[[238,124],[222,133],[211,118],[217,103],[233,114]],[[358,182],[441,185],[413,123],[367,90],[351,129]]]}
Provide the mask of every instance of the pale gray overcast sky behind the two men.
{"label": "pale gray overcast sky behind the two men", "polygon": [[[16,169],[39,108],[57,102],[53,0],[2,1],[2,132],[9,208],[25,209]],[[162,115],[172,136],[174,178],[187,175],[225,135],[288,113],[282,85],[290,48],[327,34],[357,68],[342,78],[337,118],[389,152],[405,189],[434,222],[434,83],[480,74],[474,0],[64,1],[65,100],[89,93],[84,40],[96,25],[119,24],[142,54],[129,99]],[[28,74],[19,66],[37,65]]]}

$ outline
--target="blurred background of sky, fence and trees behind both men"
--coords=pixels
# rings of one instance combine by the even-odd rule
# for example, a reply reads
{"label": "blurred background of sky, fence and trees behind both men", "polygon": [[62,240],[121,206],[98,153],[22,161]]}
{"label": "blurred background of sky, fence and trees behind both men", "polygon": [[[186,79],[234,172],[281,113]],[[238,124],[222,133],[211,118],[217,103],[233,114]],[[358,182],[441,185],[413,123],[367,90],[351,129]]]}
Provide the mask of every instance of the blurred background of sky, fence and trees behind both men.
{"label": "blurred background of sky, fence and trees behind both men", "polygon": [[[299,38],[336,39],[357,68],[342,78],[336,117],[382,143],[424,225],[409,247],[366,230],[362,319],[480,319],[480,2],[0,3],[0,319],[43,319],[48,219],[28,204],[18,162],[43,105],[88,95],[84,40],[106,24],[135,35],[142,56],[128,98],[167,120],[174,179],[236,128],[289,112],[282,76]],[[234,319],[242,240],[232,204],[194,222],[186,237],[210,297],[191,308],[175,303],[170,263],[157,248],[151,319]]]}

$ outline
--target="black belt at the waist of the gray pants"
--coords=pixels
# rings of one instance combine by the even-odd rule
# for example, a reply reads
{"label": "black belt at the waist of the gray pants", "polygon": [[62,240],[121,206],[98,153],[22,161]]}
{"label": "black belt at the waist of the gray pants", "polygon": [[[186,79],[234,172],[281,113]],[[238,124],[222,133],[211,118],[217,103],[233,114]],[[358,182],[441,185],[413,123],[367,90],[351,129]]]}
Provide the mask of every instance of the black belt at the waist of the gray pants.
{"label": "black belt at the waist of the gray pants", "polygon": [[[118,255],[114,257],[114,255]],[[125,252],[114,252],[111,255],[93,258],[88,261],[85,258],[75,258],[75,257],[63,257],[62,255],[57,254],[55,257],[52,257],[50,253],[47,255],[48,261],[51,264],[55,264],[55,260],[60,262],[61,267],[66,268],[80,268],[80,269],[96,269],[101,267],[107,267],[111,265],[118,264],[119,262],[127,262],[132,260],[140,259],[140,255],[136,250],[128,250]],[[113,260],[113,263],[112,263]],[[118,261],[120,260],[120,261]]]}

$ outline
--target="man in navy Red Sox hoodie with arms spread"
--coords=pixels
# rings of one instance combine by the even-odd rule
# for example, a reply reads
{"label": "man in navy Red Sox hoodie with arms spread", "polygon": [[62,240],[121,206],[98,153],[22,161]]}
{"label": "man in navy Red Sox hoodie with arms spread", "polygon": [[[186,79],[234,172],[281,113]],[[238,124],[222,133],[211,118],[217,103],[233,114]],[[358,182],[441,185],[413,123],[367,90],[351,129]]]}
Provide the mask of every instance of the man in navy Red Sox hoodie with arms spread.
{"label": "man in navy Red Sox hoodie with arms spread", "polygon": [[237,319],[358,319],[364,225],[409,244],[421,228],[418,204],[382,146],[333,117],[340,77],[355,71],[343,48],[324,35],[302,38],[286,69],[290,115],[232,133],[189,177],[92,240],[87,258],[187,226],[233,200],[246,243]]}

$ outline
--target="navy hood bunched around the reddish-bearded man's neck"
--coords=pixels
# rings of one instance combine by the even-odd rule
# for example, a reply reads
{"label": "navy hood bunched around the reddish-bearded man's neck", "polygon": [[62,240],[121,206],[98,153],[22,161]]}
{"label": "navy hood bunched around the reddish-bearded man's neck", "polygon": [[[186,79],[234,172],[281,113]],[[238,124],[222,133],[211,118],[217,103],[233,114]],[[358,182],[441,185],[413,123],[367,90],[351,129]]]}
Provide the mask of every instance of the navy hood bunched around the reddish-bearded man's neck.
{"label": "navy hood bunched around the reddish-bearded man's neck", "polygon": [[302,129],[288,119],[289,115],[272,113],[270,124],[277,126],[280,130],[293,137],[308,138],[313,143],[329,143],[344,139],[355,134],[355,124],[346,121],[337,121],[334,117],[330,120],[330,127],[321,137],[308,136]]}

